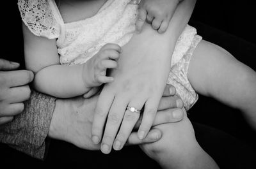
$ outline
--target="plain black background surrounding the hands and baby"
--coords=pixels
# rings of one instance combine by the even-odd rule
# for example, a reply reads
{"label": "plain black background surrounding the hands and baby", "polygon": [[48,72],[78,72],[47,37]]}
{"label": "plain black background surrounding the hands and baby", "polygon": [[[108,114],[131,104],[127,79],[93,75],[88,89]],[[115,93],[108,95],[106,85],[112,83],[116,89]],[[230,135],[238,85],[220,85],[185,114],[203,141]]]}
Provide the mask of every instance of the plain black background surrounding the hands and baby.
{"label": "plain black background surrounding the hands and baby", "polygon": [[[254,62],[256,6],[253,2],[253,0],[198,0],[189,24],[196,27],[198,34],[203,36],[204,40],[220,45],[256,70]],[[23,62],[22,31],[17,1],[3,1],[2,5],[7,10],[1,9],[1,29],[3,29],[1,57]],[[217,131],[209,129],[209,133],[213,136],[211,138],[194,123],[196,137],[198,140],[203,140],[200,145],[221,168],[249,168],[246,167],[246,159],[239,160],[243,156],[248,160],[254,158],[256,161],[255,132],[246,124],[238,110],[226,107],[214,99],[200,96],[198,103],[189,110],[189,118],[191,121],[220,129],[221,132],[225,131],[232,137],[226,139],[224,135],[217,135]],[[79,168],[146,168],[146,165],[147,168],[157,167],[154,161],[143,156],[143,152],[138,147],[125,148],[121,153],[111,152],[111,156],[104,156],[100,152],[83,151],[58,140],[52,140],[44,162],[32,159],[2,144],[0,165],[1,163],[36,168],[53,164],[74,168],[78,166]]]}

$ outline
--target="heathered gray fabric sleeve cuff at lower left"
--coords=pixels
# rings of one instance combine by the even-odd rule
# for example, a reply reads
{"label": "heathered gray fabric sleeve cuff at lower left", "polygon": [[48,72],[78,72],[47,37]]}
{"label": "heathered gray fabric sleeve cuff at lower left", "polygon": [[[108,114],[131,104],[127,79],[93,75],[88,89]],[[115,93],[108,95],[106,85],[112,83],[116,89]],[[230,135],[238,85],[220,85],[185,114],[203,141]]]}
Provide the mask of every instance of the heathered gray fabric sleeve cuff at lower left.
{"label": "heathered gray fabric sleeve cuff at lower left", "polygon": [[43,159],[56,98],[32,91],[24,111],[0,127],[0,142],[33,158]]}

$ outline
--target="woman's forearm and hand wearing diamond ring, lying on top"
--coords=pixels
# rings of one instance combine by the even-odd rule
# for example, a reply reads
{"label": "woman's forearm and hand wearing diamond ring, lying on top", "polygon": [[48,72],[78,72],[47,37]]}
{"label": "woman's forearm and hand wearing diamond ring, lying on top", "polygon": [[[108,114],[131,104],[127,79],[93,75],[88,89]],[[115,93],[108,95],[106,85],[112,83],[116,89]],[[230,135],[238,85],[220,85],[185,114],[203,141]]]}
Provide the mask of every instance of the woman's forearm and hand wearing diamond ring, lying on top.
{"label": "woman's forearm and hand wearing diamond ring, lying on top", "polygon": [[[144,138],[147,135],[168,78],[176,41],[188,23],[194,6],[195,0],[182,1],[166,33],[159,34],[145,24],[143,31],[134,34],[129,43],[123,47],[118,68],[111,72],[115,81],[104,86],[95,109],[93,142],[100,142],[108,116],[102,138],[103,152],[111,151],[119,127],[115,142],[118,144],[121,142],[121,146],[118,147],[122,148],[136,123],[138,115],[125,112],[127,106],[141,110],[145,105],[138,136]],[[107,151],[106,147],[109,148]],[[120,149],[118,147],[116,149]]]}

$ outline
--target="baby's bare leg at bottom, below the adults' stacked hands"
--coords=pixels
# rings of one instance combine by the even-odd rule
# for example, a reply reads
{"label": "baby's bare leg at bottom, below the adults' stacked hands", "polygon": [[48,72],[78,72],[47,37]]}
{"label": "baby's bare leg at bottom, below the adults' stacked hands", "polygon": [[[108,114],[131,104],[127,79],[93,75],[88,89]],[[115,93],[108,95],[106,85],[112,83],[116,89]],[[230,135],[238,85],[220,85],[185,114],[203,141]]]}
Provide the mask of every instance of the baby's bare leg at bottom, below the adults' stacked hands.
{"label": "baby's bare leg at bottom, below the adults' stacked hands", "polygon": [[188,117],[177,123],[156,126],[163,132],[155,143],[141,145],[143,151],[163,168],[218,168],[196,142]]}

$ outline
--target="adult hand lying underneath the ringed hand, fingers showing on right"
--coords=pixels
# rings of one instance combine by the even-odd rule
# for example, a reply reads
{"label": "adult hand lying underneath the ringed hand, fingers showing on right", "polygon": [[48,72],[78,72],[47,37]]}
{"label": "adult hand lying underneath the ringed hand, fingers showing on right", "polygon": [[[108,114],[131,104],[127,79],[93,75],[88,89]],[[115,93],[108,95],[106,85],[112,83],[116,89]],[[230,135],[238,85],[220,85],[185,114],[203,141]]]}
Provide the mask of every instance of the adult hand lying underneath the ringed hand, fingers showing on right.
{"label": "adult hand lying underneath the ringed hand, fingers showing on right", "polygon": [[[178,122],[184,117],[182,110],[177,108],[182,107],[180,99],[172,97],[170,91],[171,94],[175,94],[174,87],[167,85],[164,89],[163,98],[161,98],[159,103],[154,126],[168,122]],[[82,149],[99,150],[100,145],[95,145],[91,139],[93,115],[98,98],[99,96],[93,96],[90,99],[57,99],[52,115],[49,136],[73,143]],[[139,126],[139,123],[136,126]],[[152,129],[143,140],[140,140],[137,133],[133,132],[129,136],[128,143],[156,142],[160,138],[161,131],[159,129]]]}

